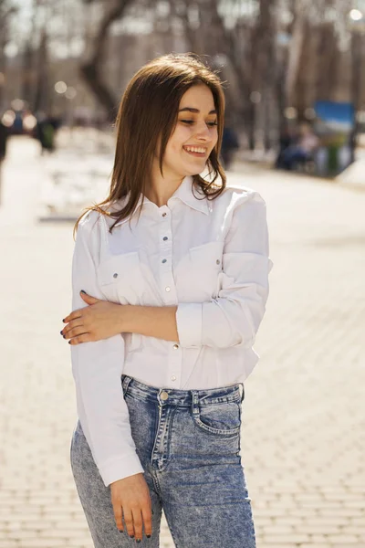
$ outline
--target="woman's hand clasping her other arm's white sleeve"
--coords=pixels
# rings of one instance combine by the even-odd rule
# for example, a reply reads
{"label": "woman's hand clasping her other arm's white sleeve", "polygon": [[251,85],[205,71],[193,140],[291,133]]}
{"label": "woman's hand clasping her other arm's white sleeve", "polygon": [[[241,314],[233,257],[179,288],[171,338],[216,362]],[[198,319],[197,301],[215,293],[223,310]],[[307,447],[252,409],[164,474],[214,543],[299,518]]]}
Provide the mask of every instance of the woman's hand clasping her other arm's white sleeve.
{"label": "woman's hand clasping her other arm's white sleeve", "polygon": [[109,339],[122,332],[120,318],[122,305],[90,297],[81,291],[81,297],[89,306],[73,311],[63,321],[68,325],[61,335],[69,339],[68,344]]}

